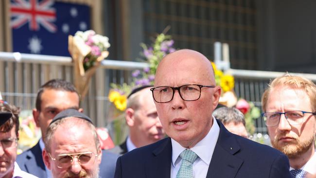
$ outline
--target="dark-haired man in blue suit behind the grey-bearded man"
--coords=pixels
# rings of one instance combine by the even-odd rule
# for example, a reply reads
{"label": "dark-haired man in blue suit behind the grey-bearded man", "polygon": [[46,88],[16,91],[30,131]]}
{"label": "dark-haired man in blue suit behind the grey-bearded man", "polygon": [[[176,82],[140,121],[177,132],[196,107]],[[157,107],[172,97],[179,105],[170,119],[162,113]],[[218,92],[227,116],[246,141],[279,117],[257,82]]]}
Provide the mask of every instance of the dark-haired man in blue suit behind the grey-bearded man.
{"label": "dark-haired man in blue suit behind the grey-bearded man", "polygon": [[[53,79],[45,83],[38,89],[36,97],[36,108],[33,109],[35,123],[41,129],[42,138],[31,149],[18,155],[17,162],[22,170],[31,173],[39,178],[51,178],[49,169],[45,166],[42,159],[42,150],[46,129],[53,120],[53,117],[59,112],[73,108],[80,112],[80,97],[75,87],[65,80]],[[102,177],[113,176],[117,155],[104,150],[105,159],[100,166],[100,175]]]}

